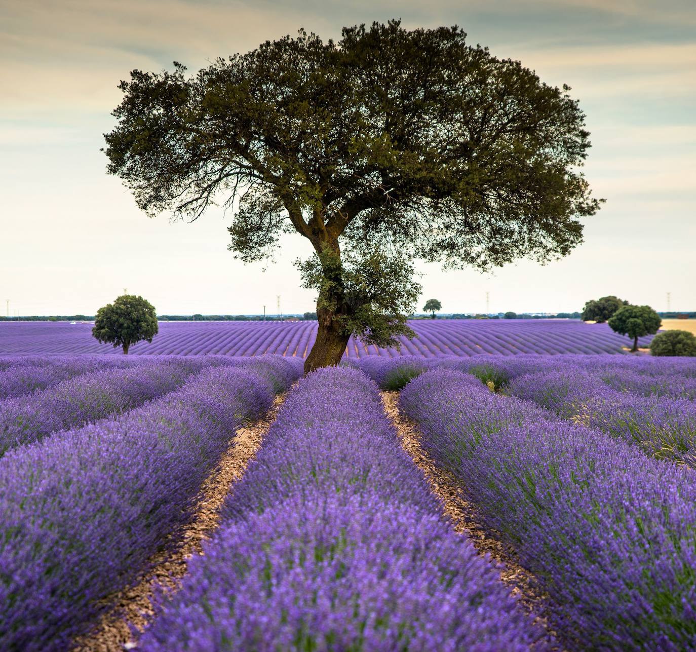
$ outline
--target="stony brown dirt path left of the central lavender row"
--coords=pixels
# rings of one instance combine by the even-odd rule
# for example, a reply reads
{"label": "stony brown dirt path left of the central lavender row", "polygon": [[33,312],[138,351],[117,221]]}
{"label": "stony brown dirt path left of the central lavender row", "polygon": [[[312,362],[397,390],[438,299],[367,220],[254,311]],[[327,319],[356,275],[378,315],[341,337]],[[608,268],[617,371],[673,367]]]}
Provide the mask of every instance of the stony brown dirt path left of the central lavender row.
{"label": "stony brown dirt path left of the central lavender row", "polygon": [[177,590],[178,580],[187,573],[188,560],[193,555],[203,554],[203,541],[209,539],[219,525],[223,502],[259,450],[284,398],[285,394],[277,396],[266,417],[239,428],[230,440],[227,452],[201,487],[198,507],[191,522],[176,534],[182,541],[176,554],[156,557],[155,567],[138,585],[111,596],[109,603],[116,606],[102,617],[90,635],[76,642],[72,652],[122,652],[137,648],[128,623],[142,631],[152,619],[155,587]]}

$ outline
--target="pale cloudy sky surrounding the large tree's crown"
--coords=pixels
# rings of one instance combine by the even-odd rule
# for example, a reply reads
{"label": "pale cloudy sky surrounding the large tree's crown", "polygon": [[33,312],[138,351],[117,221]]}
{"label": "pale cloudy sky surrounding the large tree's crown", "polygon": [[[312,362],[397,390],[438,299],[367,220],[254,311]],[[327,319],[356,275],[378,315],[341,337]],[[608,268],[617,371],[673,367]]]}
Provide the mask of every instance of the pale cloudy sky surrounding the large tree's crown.
{"label": "pale cloudy sky surrounding the large tree's crown", "polygon": [[[120,80],[135,68],[190,73],[299,28],[401,18],[461,26],[470,45],[569,84],[587,116],[584,168],[607,202],[585,242],[544,266],[482,274],[418,264],[420,304],[443,312],[581,310],[616,294],[696,310],[696,4],[693,0],[0,0],[0,314],[93,315],[124,289],[162,315],[314,309],[288,235],[274,264],[227,249],[232,216],[148,218],[106,174]],[[264,271],[265,267],[265,271]],[[6,303],[9,299],[9,304]]]}

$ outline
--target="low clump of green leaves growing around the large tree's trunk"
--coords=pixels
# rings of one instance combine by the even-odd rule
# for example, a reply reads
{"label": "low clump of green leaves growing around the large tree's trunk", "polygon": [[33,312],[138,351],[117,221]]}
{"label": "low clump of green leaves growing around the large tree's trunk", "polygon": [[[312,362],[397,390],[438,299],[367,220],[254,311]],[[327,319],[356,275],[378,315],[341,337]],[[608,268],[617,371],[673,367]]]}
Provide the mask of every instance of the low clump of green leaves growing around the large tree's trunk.
{"label": "low clump of green leaves growing around the large tree's trunk", "polygon": [[319,293],[317,312],[337,315],[343,333],[397,349],[400,335],[413,337],[406,315],[415,309],[420,285],[413,280],[410,262],[377,249],[350,250],[342,256],[326,249],[295,265],[303,287]]}

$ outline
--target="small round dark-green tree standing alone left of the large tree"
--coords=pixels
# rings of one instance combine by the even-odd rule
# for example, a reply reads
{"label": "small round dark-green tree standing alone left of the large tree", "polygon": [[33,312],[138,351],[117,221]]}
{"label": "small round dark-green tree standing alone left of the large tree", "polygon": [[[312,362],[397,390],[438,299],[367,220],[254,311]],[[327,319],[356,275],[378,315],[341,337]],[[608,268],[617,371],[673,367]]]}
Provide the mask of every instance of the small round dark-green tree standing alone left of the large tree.
{"label": "small round dark-green tree standing alone left of the large tree", "polygon": [[142,296],[122,294],[113,303],[97,310],[92,335],[113,348],[123,347],[127,355],[131,344],[145,340],[152,342],[157,335],[155,306]]}

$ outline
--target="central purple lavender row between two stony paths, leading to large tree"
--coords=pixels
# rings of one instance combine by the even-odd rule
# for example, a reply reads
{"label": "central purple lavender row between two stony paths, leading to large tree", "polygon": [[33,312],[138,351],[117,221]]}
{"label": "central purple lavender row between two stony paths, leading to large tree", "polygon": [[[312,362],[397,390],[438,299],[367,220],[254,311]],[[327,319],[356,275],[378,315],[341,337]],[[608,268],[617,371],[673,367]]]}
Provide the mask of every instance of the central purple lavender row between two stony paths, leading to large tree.
{"label": "central purple lavender row between two stony paths, leading to large tree", "polygon": [[529,620],[439,514],[374,385],[319,370],[139,649],[527,650]]}

